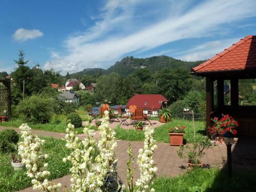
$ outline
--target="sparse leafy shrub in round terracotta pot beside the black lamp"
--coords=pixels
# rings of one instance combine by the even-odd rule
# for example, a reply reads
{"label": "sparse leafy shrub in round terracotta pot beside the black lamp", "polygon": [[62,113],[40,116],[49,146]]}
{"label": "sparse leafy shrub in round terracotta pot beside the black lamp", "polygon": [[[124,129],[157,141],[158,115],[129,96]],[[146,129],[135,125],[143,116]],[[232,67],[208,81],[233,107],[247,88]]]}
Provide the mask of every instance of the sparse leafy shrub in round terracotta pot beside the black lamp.
{"label": "sparse leafy shrub in round terracotta pot beside the black lamp", "polygon": [[[180,146],[177,151],[179,158],[188,158],[188,167],[193,169],[194,166],[202,166],[202,157],[205,154],[205,150],[210,147],[210,140],[207,137],[197,138],[191,145]],[[186,152],[184,149],[187,148]]]}

